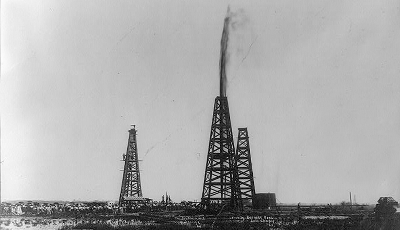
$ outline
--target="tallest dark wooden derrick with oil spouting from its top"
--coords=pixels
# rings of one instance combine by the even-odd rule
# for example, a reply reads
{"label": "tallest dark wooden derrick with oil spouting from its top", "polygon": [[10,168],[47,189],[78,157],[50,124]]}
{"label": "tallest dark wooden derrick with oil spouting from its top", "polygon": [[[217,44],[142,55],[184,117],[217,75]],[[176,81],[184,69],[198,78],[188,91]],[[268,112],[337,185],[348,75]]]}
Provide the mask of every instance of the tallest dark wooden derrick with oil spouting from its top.
{"label": "tallest dark wooden derrick with oil spouting from its top", "polygon": [[204,175],[202,203],[241,205],[238,193],[237,169],[235,167],[235,146],[233,143],[228,100],[218,96],[214,102],[206,172]]}

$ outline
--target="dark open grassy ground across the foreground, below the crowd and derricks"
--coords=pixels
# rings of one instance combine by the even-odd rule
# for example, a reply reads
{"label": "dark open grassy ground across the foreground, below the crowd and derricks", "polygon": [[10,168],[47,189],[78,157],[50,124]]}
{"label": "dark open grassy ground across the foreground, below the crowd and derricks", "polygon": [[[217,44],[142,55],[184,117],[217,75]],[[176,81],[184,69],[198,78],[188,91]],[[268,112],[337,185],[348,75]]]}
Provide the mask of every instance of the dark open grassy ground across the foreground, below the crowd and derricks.
{"label": "dark open grassy ground across the foreground, below the crowd and derricks", "polygon": [[[301,208],[299,210],[245,210],[243,212],[194,213],[192,211],[138,212],[132,214],[39,217],[1,217],[1,230],[8,229],[254,229],[254,230],[398,230],[400,213],[389,218],[378,218],[369,210],[327,210]],[[318,210],[320,209],[320,210]]]}

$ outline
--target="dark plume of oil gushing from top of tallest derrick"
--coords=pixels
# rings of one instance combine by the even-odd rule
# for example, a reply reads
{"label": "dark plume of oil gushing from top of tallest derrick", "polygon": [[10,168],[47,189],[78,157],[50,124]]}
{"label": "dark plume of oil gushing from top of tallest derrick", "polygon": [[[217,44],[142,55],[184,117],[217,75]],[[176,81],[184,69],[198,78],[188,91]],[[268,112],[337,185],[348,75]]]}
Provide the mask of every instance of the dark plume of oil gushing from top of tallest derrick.
{"label": "dark plume of oil gushing from top of tallest derrick", "polygon": [[226,17],[224,19],[224,29],[222,31],[221,37],[221,51],[220,51],[220,96],[226,97],[226,65],[229,61],[228,48],[228,38],[229,38],[229,20],[230,20],[230,10],[226,12]]}

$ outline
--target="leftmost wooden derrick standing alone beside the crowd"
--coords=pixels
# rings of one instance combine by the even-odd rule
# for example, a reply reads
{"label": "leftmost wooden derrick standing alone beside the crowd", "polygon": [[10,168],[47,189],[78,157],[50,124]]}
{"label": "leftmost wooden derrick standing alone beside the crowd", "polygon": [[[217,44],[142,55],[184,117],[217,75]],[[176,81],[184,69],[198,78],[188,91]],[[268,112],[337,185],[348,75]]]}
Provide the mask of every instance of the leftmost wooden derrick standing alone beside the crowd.
{"label": "leftmost wooden derrick standing alone beside the crowd", "polygon": [[125,161],[123,167],[122,185],[119,205],[122,205],[124,199],[132,197],[142,197],[139,172],[138,143],[136,142],[136,128],[131,125],[128,138],[128,147],[126,154],[123,155]]}

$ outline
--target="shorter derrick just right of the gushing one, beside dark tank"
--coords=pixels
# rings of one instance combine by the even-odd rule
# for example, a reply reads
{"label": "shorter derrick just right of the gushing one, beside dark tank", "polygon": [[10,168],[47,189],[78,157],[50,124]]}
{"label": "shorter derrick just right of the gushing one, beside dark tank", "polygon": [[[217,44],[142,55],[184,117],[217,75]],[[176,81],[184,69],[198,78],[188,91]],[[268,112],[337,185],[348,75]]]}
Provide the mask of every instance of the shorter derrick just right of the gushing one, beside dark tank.
{"label": "shorter derrick just right of the gushing one, beside dark tank", "polygon": [[250,200],[256,192],[247,128],[239,128],[238,144],[236,146],[236,168],[238,170],[240,195],[242,199]]}

